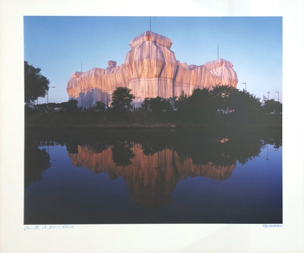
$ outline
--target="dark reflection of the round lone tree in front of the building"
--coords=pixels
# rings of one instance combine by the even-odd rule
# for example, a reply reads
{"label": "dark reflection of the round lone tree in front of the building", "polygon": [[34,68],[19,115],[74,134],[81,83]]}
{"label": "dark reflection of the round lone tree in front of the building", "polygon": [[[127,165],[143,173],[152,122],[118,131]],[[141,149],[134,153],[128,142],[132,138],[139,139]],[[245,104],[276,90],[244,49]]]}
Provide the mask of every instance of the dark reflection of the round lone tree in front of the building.
{"label": "dark reflection of the round lone tree in front of the building", "polygon": [[125,145],[123,142],[118,142],[112,146],[112,160],[116,166],[128,166],[132,163],[130,159],[134,158],[135,154],[130,149],[131,147],[131,144]]}

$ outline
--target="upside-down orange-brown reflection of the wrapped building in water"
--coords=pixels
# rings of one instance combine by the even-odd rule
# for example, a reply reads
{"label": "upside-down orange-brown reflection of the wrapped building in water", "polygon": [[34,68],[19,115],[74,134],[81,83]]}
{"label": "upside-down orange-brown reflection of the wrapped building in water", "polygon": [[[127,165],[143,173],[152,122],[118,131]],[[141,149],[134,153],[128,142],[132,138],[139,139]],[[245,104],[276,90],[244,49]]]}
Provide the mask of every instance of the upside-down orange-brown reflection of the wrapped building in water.
{"label": "upside-down orange-brown reflection of the wrapped building in water", "polygon": [[109,179],[121,176],[132,193],[132,200],[145,207],[164,205],[171,200],[170,193],[180,179],[188,176],[205,176],[225,180],[232,175],[236,162],[231,166],[194,165],[192,159],[181,160],[175,151],[164,149],[153,156],[146,156],[140,145],[131,150],[136,154],[128,166],[116,166],[109,147],[101,153],[86,146],[78,146],[78,154],[69,154],[72,163],[84,166],[94,173],[107,172]]}

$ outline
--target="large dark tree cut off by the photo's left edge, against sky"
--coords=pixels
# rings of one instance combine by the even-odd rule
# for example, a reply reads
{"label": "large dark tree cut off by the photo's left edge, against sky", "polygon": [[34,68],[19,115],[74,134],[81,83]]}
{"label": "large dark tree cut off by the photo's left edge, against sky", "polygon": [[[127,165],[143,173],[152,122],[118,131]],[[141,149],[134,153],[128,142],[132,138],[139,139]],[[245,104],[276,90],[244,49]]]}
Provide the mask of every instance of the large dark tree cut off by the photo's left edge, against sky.
{"label": "large dark tree cut off by the photo's left edge, against sky", "polygon": [[24,61],[24,100],[33,102],[38,97],[45,97],[49,90],[50,81],[35,68]]}

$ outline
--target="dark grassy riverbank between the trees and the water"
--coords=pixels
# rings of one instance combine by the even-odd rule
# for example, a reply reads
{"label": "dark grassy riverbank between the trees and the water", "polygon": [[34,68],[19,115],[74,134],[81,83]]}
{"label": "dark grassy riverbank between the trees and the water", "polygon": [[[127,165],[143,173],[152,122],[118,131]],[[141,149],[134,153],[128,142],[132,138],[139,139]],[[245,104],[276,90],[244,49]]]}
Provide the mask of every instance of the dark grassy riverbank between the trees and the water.
{"label": "dark grassy riverbank between the trees and the water", "polygon": [[[251,121],[251,122],[250,122]],[[188,123],[176,113],[125,114],[96,112],[30,112],[25,115],[26,128],[282,128],[282,115],[261,115],[255,120],[233,115],[215,115],[212,119]]]}

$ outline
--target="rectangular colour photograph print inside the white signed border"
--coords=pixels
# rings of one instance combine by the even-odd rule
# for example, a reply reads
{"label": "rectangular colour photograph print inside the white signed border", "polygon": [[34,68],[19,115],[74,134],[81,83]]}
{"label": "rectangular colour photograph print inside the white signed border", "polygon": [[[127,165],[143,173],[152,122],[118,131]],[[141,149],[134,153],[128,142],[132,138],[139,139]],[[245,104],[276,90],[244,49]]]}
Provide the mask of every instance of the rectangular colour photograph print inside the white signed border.
{"label": "rectangular colour photograph print inside the white signed border", "polygon": [[282,224],[282,17],[24,16],[24,224]]}

